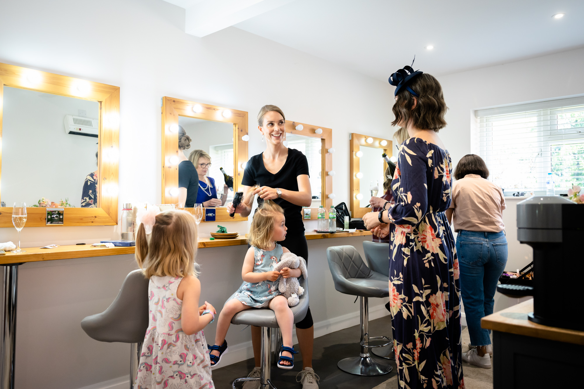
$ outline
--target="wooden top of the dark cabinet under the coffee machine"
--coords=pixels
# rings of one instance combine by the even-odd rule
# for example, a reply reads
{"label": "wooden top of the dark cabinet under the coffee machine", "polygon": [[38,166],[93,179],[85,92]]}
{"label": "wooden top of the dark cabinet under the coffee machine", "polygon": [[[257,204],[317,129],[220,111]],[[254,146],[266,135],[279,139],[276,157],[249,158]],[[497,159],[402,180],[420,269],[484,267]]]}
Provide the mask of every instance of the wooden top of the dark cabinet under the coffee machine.
{"label": "wooden top of the dark cabinet under the coffee machine", "polygon": [[[527,314],[533,312],[533,298],[513,307],[495,312],[481,319],[481,327],[510,334],[533,336],[550,341],[584,345],[584,331],[549,327],[529,321]],[[518,317],[518,318],[517,318]]]}

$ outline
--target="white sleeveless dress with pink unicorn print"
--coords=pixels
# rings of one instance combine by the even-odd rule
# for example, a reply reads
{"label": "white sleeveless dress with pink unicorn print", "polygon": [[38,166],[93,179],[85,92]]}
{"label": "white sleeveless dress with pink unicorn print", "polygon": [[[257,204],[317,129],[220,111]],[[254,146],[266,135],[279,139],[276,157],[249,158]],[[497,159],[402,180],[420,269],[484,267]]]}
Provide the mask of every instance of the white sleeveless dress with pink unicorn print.
{"label": "white sleeveless dress with pink unicorn print", "polygon": [[150,278],[150,319],[134,389],[211,389],[211,360],[203,331],[186,335],[180,324],[182,277]]}

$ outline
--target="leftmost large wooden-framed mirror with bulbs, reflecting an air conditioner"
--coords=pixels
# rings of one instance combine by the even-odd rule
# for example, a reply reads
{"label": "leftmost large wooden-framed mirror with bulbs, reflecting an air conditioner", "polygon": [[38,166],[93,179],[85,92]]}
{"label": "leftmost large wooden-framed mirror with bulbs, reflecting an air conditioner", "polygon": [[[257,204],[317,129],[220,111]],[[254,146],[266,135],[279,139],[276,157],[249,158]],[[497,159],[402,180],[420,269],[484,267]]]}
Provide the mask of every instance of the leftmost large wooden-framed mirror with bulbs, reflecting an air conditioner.
{"label": "leftmost large wooden-framed mirror with bulbs, reflecting an air conditioner", "polygon": [[119,88],[0,64],[0,227],[25,202],[27,227],[117,224]]}

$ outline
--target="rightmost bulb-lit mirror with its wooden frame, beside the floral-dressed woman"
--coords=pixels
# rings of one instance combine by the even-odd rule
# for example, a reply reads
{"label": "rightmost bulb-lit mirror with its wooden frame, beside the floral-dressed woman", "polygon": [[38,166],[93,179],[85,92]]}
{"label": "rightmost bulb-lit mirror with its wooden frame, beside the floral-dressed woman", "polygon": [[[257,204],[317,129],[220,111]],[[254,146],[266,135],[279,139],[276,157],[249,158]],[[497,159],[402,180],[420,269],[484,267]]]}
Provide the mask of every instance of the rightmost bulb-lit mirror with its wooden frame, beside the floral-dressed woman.
{"label": "rightmost bulb-lit mirror with its wooden frame, beside the floral-dressed woman", "polygon": [[391,158],[392,152],[391,140],[350,134],[352,217],[363,217],[370,212],[369,199],[384,194],[383,183],[388,179],[385,175],[387,163],[381,155],[385,153]]}

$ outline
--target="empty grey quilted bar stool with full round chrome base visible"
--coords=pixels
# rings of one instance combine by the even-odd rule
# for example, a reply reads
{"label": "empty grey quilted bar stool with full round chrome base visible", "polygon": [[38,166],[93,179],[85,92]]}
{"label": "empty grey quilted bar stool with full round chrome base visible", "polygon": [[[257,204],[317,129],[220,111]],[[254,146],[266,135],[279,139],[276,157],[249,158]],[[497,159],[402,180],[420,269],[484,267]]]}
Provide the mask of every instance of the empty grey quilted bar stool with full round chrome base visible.
{"label": "empty grey quilted bar stool with full round chrome base visible", "polygon": [[[361,319],[361,353],[339,361],[340,370],[359,376],[387,374],[392,367],[384,359],[374,360],[369,349],[390,345],[387,336],[369,336],[369,297],[385,297],[389,294],[388,277],[373,272],[361,259],[353,246],[332,246],[326,249],[335,289],[340,293],[359,296]],[[371,341],[385,343],[372,344]],[[370,344],[371,343],[371,344]]]}

